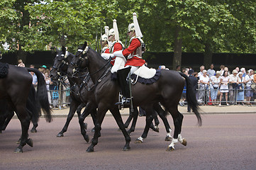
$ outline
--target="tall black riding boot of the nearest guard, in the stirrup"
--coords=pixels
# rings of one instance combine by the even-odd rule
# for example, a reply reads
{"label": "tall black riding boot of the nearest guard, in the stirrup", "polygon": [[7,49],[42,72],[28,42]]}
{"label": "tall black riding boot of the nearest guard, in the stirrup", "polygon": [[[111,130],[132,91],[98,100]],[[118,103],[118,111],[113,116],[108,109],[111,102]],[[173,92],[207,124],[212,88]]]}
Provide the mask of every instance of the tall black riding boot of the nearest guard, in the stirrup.
{"label": "tall black riding boot of the nearest guard, in the stirrup", "polygon": [[130,89],[129,84],[126,78],[128,77],[128,74],[130,72],[130,67],[119,69],[117,71],[117,80],[118,84],[121,87],[121,94],[123,97],[121,98],[121,101],[116,103],[116,105],[124,105],[124,104],[130,104]]}

